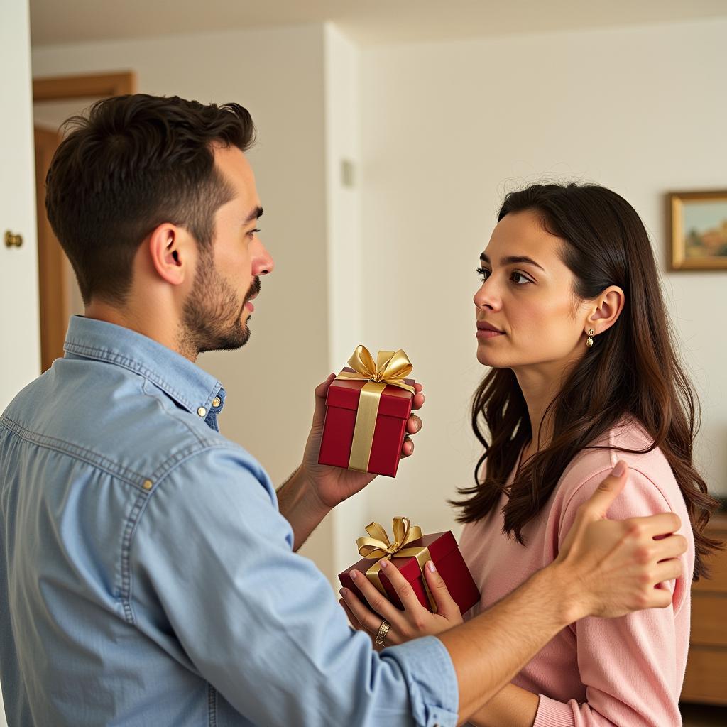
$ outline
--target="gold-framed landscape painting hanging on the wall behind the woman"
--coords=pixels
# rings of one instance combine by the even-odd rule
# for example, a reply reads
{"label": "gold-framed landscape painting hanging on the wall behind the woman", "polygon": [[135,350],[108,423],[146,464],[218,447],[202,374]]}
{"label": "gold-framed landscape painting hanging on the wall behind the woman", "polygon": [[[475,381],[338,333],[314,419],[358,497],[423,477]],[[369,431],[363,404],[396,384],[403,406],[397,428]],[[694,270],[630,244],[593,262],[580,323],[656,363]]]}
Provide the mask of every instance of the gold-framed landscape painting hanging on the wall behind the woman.
{"label": "gold-framed landscape painting hanging on the wall behind the woman", "polygon": [[727,190],[667,195],[671,270],[727,270]]}

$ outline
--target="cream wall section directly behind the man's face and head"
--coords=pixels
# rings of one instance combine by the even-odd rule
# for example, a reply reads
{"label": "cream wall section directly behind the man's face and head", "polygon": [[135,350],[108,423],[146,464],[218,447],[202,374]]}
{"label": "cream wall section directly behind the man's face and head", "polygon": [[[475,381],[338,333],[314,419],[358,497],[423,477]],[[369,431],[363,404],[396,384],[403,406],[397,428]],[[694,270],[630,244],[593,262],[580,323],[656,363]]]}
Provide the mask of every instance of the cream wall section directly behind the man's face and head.
{"label": "cream wall section directly behind the man's face and head", "polygon": [[[257,125],[249,157],[276,270],[262,279],[249,345],[204,354],[200,364],[228,391],[223,433],[281,483],[300,462],[313,389],[329,371],[324,26],[33,49],[36,77],[129,69],[140,92],[236,101]],[[324,522],[303,551],[329,576],[331,537]]]}

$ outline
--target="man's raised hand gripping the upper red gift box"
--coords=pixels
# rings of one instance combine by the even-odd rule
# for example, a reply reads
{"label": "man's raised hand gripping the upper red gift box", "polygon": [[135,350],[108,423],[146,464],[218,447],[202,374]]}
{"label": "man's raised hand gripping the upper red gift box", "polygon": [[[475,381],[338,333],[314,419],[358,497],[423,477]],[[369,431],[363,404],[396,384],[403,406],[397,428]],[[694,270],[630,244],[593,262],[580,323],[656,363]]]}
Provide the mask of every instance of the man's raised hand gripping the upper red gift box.
{"label": "man's raised hand gripping the upper red gift box", "polygon": [[[308,479],[311,491],[318,497],[320,504],[328,509],[351,497],[366,487],[376,475],[355,470],[343,470],[340,467],[318,464],[318,452],[321,449],[323,425],[326,419],[326,395],[335,374],[316,387],[316,409],[313,412],[313,425],[310,427],[308,441],[305,444],[305,454],[301,465],[301,474]],[[414,384],[416,393],[412,409],[421,409],[424,405],[422,385]],[[414,451],[414,442],[410,435],[416,434],[422,428],[422,420],[415,414],[406,422],[406,438],[401,446],[401,457],[410,457]]]}

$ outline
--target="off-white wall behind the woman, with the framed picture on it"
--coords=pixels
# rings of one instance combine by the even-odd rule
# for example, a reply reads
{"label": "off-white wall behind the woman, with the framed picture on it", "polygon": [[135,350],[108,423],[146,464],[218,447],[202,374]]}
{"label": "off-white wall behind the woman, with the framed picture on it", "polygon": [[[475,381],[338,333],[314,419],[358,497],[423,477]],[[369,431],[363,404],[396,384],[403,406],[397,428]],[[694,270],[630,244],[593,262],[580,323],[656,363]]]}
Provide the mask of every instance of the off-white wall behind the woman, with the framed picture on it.
{"label": "off-white wall behind the woman, with the framed picture on it", "polygon": [[[666,260],[664,192],[727,188],[727,22],[406,45],[361,56],[364,339],[425,382],[417,455],[369,515],[446,529],[472,482],[474,268],[507,190],[542,177],[625,196]],[[664,276],[702,399],[698,461],[727,492],[727,273]]]}

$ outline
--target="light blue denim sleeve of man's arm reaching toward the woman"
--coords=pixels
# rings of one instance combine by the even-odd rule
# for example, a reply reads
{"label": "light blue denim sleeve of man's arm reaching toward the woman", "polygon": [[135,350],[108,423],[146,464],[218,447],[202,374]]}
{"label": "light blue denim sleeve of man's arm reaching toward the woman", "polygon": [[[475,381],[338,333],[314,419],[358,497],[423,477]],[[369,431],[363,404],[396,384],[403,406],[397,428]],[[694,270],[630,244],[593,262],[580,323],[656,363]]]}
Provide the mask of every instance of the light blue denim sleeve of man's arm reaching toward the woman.
{"label": "light blue denim sleeve of man's arm reaching toward the woman", "polygon": [[197,454],[156,484],[132,545],[137,627],[256,724],[457,723],[446,648],[384,651],[348,627],[292,552],[270,481],[244,450]]}

